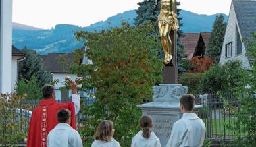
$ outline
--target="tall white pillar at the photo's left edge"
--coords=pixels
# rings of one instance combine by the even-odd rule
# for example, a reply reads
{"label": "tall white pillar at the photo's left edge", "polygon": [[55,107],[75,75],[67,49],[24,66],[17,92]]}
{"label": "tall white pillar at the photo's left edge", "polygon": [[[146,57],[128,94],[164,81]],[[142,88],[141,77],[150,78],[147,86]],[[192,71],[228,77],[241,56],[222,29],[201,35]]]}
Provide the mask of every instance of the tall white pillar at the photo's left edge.
{"label": "tall white pillar at the photo's left edge", "polygon": [[0,93],[11,92],[12,0],[0,0]]}

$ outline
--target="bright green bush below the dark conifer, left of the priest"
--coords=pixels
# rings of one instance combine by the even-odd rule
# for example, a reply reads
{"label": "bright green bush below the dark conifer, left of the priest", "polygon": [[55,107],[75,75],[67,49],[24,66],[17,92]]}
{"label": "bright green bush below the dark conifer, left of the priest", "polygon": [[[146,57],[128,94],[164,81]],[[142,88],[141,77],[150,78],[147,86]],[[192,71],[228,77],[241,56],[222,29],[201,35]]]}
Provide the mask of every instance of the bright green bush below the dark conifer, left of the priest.
{"label": "bright green bush below the dark conifer, left of the priest", "polygon": [[20,96],[26,94],[26,99],[29,100],[42,98],[41,86],[39,86],[36,80],[36,76],[34,75],[32,75],[30,80],[21,78],[18,84],[16,85],[16,92]]}

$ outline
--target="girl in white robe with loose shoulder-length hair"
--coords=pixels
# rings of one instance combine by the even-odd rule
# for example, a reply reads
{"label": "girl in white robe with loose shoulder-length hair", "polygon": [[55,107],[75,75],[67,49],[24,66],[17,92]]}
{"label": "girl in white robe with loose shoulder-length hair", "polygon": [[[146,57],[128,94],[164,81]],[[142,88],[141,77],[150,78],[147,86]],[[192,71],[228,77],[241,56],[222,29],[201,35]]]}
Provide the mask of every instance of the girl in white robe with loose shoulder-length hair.
{"label": "girl in white robe with loose shoulder-length hair", "polygon": [[94,135],[94,141],[91,147],[121,147],[119,142],[113,138],[115,129],[112,121],[101,121]]}

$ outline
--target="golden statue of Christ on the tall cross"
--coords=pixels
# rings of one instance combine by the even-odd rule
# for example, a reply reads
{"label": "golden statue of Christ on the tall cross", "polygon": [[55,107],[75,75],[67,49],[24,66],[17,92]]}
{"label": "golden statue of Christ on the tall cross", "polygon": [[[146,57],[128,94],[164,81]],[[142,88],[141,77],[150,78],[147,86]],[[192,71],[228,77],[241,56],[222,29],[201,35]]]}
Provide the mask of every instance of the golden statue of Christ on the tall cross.
{"label": "golden statue of Christ on the tall cross", "polygon": [[[157,1],[158,0],[155,0],[155,7],[157,7]],[[165,54],[165,64],[168,64],[172,61],[172,40],[170,39],[170,33],[172,30],[178,30],[179,28],[177,16],[175,13],[175,2],[175,0],[161,0],[161,11],[157,20],[159,34],[161,36],[161,42]]]}

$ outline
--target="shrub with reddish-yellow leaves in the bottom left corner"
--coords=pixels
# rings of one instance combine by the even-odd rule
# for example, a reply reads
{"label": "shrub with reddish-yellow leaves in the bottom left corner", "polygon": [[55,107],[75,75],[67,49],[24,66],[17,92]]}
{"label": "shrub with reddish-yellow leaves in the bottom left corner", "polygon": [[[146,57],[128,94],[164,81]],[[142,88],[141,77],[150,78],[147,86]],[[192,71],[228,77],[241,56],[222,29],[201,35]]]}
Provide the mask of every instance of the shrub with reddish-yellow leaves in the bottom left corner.
{"label": "shrub with reddish-yellow leaves in the bottom left corner", "polygon": [[26,134],[24,134],[24,119],[20,119],[20,100],[24,96],[15,94],[0,95],[0,143],[1,146],[17,146],[18,143],[24,142]]}

